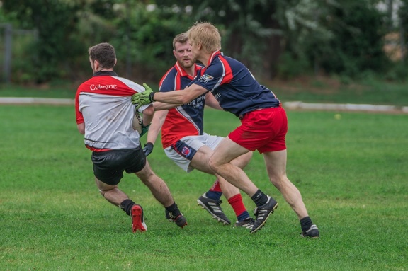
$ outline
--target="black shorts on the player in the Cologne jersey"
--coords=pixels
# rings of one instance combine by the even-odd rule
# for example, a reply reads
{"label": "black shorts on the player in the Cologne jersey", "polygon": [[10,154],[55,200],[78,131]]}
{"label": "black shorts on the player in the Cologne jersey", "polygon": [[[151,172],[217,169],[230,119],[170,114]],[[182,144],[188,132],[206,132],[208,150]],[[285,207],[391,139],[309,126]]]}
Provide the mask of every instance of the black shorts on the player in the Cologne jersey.
{"label": "black shorts on the player in the Cologne jersey", "polygon": [[123,178],[123,171],[135,173],[146,166],[146,156],[142,148],[94,151],[91,156],[94,175],[108,185],[117,185]]}

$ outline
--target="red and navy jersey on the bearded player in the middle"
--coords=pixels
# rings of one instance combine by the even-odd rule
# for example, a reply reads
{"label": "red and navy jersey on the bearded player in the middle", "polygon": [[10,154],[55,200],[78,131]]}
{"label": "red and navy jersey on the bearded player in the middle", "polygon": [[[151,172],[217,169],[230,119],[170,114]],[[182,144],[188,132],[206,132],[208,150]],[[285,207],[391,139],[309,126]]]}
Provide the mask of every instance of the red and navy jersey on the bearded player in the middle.
{"label": "red and navy jersey on the bearded player in the middle", "polygon": [[[196,73],[200,66],[195,64]],[[176,62],[174,67],[164,74],[159,84],[159,91],[168,92],[186,88],[193,80],[186,71]],[[171,108],[162,126],[162,144],[167,148],[179,139],[203,134],[203,115],[205,106],[205,94],[192,100],[185,105]]]}

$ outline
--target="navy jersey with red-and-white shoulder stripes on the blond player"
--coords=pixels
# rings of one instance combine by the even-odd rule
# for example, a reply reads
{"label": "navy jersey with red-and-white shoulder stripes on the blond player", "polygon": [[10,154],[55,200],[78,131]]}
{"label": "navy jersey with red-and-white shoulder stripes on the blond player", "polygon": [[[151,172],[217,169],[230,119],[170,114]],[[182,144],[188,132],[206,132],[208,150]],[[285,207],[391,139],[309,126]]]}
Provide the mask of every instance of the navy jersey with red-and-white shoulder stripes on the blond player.
{"label": "navy jersey with red-and-white shoulder stripes on the blond player", "polygon": [[237,117],[256,109],[280,106],[275,94],[259,84],[244,64],[220,51],[212,53],[207,66],[198,71],[191,83],[211,91],[220,106]]}

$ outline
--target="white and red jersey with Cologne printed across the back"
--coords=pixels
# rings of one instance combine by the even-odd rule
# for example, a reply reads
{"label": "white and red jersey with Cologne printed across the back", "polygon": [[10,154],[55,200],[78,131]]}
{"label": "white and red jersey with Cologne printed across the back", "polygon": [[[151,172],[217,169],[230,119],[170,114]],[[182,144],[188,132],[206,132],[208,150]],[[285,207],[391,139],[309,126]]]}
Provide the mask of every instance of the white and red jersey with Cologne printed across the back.
{"label": "white and red jersey with Cologne printed across the back", "polygon": [[[143,92],[139,84],[113,71],[98,71],[81,83],[75,96],[77,124],[85,122],[84,140],[92,151],[135,149],[139,133],[132,127],[135,105],[131,96]],[[140,112],[149,105],[143,105]]]}

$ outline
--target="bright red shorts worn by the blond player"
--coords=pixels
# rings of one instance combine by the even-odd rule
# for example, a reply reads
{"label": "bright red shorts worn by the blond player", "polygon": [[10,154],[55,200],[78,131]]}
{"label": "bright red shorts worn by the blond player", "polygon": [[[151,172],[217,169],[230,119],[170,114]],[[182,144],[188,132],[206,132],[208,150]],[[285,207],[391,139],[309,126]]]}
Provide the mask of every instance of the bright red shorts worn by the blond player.
{"label": "bright red shorts worn by the blond player", "polygon": [[241,126],[228,137],[246,149],[259,153],[283,151],[286,149],[285,136],[288,132],[288,118],[282,107],[264,108],[246,113]]}

